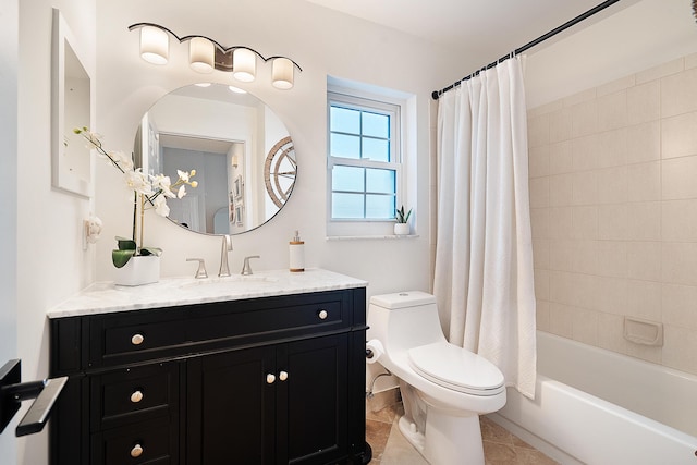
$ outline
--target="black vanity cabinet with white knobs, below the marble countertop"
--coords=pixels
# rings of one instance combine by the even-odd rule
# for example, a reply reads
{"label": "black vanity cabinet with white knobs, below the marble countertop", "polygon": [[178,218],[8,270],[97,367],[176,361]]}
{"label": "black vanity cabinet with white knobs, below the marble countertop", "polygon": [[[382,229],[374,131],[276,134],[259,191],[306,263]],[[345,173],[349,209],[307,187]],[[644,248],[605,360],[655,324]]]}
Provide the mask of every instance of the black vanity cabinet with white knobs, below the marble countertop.
{"label": "black vanity cabinet with white knobs, below the marble countertop", "polygon": [[51,464],[366,463],[365,287],[54,318]]}

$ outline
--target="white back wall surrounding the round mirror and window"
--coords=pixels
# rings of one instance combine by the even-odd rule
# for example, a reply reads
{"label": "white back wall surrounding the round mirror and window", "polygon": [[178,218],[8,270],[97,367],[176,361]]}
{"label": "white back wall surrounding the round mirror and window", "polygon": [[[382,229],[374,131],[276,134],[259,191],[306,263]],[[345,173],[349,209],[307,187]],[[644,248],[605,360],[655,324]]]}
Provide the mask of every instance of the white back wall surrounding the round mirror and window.
{"label": "white back wall surrounding the round mirror and window", "polygon": [[[269,84],[270,63],[258,63],[255,83],[235,83],[264,100],[288,126],[296,147],[298,176],[288,206],[262,228],[233,238],[231,269],[242,268],[247,255],[261,255],[256,269],[288,267],[288,242],[294,230],[305,241],[306,265],[322,267],[370,282],[369,293],[403,289],[428,290],[429,269],[429,101],[443,70],[461,65],[450,62],[447,51],[403,34],[304,1],[210,2],[210,9],[188,1],[101,2],[98,7],[97,130],[111,148],[133,145],[142,114],[163,94],[180,86],[211,79],[221,83],[232,76],[221,72],[201,76],[187,65],[187,47],[174,40],[170,63],[150,65],[138,57],[138,33],[130,24],[155,22],[176,34],[204,34],[224,46],[248,45],[265,56],[285,54],[303,68],[295,87],[289,91]],[[220,19],[228,19],[221,21]],[[415,58],[425,60],[415,65]],[[423,71],[421,71],[423,70]],[[327,75],[391,87],[416,95],[413,132],[408,134],[414,159],[408,186],[420,235],[403,241],[326,241],[326,83]],[[105,76],[109,76],[107,79]],[[97,169],[97,213],[105,221],[103,240],[98,245],[97,276],[111,279],[110,238],[129,232],[130,211],[113,170]],[[111,192],[111,194],[109,194]],[[118,192],[118,191],[115,191]],[[166,276],[192,276],[195,269],[186,257],[204,257],[209,270],[217,270],[220,238],[193,235],[155,215],[146,218],[146,241],[163,248]]]}

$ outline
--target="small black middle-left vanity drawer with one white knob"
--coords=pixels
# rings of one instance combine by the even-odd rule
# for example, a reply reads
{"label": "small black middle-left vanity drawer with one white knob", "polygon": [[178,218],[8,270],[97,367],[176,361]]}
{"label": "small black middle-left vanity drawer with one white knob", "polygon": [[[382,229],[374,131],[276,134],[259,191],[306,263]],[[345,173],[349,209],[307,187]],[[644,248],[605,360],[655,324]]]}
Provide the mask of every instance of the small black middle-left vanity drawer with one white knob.
{"label": "small black middle-left vanity drawer with one white knob", "polygon": [[117,369],[90,381],[93,431],[178,414],[176,362]]}

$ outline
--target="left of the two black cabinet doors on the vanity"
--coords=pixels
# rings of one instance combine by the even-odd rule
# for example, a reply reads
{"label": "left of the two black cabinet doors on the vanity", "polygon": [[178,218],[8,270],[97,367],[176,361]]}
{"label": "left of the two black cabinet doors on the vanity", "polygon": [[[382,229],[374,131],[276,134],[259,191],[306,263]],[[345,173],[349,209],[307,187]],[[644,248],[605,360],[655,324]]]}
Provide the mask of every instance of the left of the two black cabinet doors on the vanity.
{"label": "left of the two black cabinet doors on the vanity", "polygon": [[254,347],[187,363],[187,464],[273,463],[274,347]]}

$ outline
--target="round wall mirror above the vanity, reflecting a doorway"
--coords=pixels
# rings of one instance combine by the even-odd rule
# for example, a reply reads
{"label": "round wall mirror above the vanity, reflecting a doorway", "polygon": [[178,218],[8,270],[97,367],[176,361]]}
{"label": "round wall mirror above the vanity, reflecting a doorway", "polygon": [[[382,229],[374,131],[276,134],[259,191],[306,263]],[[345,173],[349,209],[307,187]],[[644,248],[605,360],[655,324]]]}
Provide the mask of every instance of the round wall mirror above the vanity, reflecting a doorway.
{"label": "round wall mirror above the vanity, reflecting a doorway", "polygon": [[221,84],[192,85],[161,99],[143,117],[135,162],[178,179],[196,170],[198,187],[168,199],[170,220],[207,234],[260,227],[288,201],[297,163],[285,125],[258,98]]}

